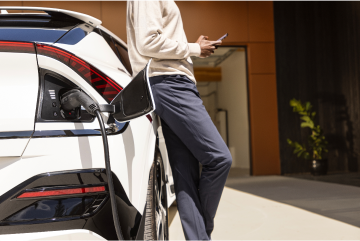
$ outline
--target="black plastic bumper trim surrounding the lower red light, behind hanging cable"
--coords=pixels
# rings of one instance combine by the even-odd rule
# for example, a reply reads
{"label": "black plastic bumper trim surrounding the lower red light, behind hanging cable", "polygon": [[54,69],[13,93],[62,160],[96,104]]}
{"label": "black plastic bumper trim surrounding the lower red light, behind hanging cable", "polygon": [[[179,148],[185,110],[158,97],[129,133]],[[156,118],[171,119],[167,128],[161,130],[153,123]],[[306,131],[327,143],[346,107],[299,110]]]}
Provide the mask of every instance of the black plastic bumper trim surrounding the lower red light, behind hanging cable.
{"label": "black plastic bumper trim surrounding the lower red light, behind hanging cable", "polygon": [[[127,194],[122,187],[119,179],[113,173],[117,207],[121,222],[122,232],[126,241],[132,241],[138,234],[142,215],[129,201]],[[96,209],[82,216],[68,216],[52,219],[38,219],[30,221],[6,221],[6,218],[19,212],[20,210],[33,205],[41,199],[13,199],[24,190],[34,190],[36,188],[55,188],[55,187],[76,187],[76,186],[101,186],[107,184],[105,169],[79,169],[61,172],[50,172],[36,175],[17,185],[0,196],[0,235],[45,232],[69,229],[87,229],[93,231],[107,240],[117,240],[115,229],[112,222],[111,206],[107,192],[93,193],[90,196],[107,195]],[[64,198],[69,195],[58,197]],[[56,197],[54,197],[56,199]]]}

